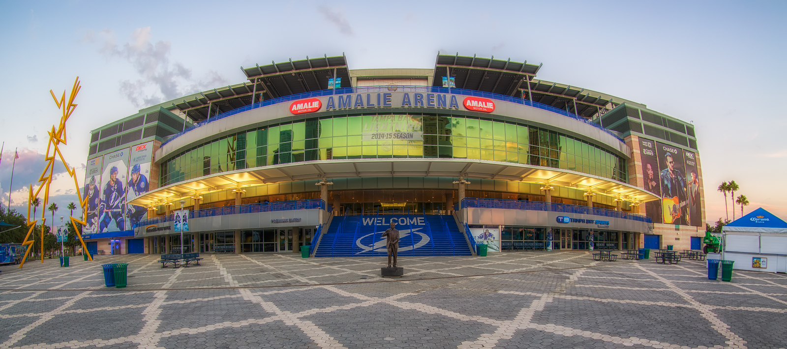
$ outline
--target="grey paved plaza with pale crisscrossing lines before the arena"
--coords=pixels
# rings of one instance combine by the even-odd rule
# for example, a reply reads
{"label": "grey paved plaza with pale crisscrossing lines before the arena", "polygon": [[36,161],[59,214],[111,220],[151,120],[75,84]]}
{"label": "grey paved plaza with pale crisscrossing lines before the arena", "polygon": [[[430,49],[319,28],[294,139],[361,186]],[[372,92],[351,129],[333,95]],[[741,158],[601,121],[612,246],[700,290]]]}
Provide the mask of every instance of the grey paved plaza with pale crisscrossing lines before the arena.
{"label": "grey paved plaza with pale crisscrossing lines before the arena", "polygon": [[[385,258],[157,255],[0,266],[0,347],[787,347],[787,277],[587,252]],[[76,259],[76,258],[75,258]],[[129,263],[127,288],[101,264]]]}

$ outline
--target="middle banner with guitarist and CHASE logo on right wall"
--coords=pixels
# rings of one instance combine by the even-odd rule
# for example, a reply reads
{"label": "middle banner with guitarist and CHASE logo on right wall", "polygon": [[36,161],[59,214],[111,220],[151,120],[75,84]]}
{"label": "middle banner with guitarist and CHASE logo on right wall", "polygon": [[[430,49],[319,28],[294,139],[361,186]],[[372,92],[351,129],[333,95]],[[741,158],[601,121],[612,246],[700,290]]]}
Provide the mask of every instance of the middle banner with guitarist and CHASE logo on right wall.
{"label": "middle banner with guitarist and CHASE logo on right wall", "polygon": [[686,187],[683,150],[656,143],[659,156],[661,210],[664,223],[689,225],[689,195]]}

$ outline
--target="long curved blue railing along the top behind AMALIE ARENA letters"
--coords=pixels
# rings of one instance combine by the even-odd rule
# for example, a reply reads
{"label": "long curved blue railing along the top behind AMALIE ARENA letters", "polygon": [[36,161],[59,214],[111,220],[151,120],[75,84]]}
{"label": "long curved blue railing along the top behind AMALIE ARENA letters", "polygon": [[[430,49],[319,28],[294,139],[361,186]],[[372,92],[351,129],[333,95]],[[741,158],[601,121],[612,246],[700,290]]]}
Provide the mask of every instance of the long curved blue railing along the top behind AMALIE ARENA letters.
{"label": "long curved blue railing along the top behind AMALIE ARENA letters", "polygon": [[[412,91],[412,92],[428,92],[428,93],[437,93],[437,94],[459,94],[459,95],[462,95],[462,96],[485,97],[485,98],[490,98],[490,99],[496,99],[498,101],[507,101],[507,102],[516,103],[516,104],[519,104],[519,105],[527,105],[529,107],[543,109],[543,110],[546,110],[548,112],[554,112],[556,114],[560,114],[562,116],[567,116],[567,117],[569,117],[571,119],[575,119],[575,120],[580,121],[582,123],[586,123],[586,124],[588,124],[588,125],[590,125],[592,127],[596,127],[596,128],[598,128],[600,130],[604,130],[605,133],[607,133],[607,134],[611,135],[612,137],[614,137],[615,139],[618,139],[619,141],[623,142],[623,139],[618,137],[618,135],[616,135],[616,134],[612,133],[610,130],[607,130],[606,128],[598,125],[597,123],[593,123],[592,121],[583,118],[582,116],[577,116],[576,114],[571,113],[571,112],[566,112],[563,109],[555,108],[555,107],[552,107],[551,105],[541,104],[541,103],[538,103],[538,102],[535,102],[535,101],[529,101],[527,99],[506,96],[504,94],[492,94],[492,93],[489,93],[489,92],[481,92],[481,91],[477,91],[477,90],[460,89],[460,88],[456,88],[456,87],[448,88],[448,87],[435,87],[435,86],[396,86],[396,88],[397,88],[397,90],[401,90],[401,91],[404,91],[404,92],[411,92]],[[198,127],[205,126],[208,123],[212,123],[214,121],[217,121],[217,120],[220,120],[220,119],[224,119],[224,118],[226,118],[228,116],[234,116],[234,115],[239,114],[241,112],[248,112],[249,110],[253,110],[253,109],[256,109],[256,108],[267,107],[268,105],[276,105],[276,104],[285,103],[285,102],[288,102],[288,101],[297,101],[299,99],[304,99],[304,98],[324,97],[324,96],[331,96],[331,95],[335,95],[335,94],[358,94],[358,93],[366,93],[366,92],[386,92],[386,93],[389,93],[390,90],[388,90],[388,89],[389,89],[388,86],[346,87],[346,88],[343,88],[343,89],[336,89],[336,90],[319,90],[319,91],[313,91],[313,92],[305,92],[303,94],[291,94],[291,95],[285,96],[285,97],[279,97],[279,98],[269,99],[269,100],[266,100],[266,101],[260,101],[260,102],[257,102],[257,103],[253,103],[251,105],[246,105],[246,106],[241,107],[241,108],[233,109],[233,110],[228,111],[228,112],[223,112],[223,113],[221,113],[221,114],[219,114],[217,116],[213,116],[212,118],[203,120],[203,121],[201,121],[199,123],[194,123],[190,127],[187,127],[185,130],[170,136],[166,141],[164,141],[161,144],[161,146],[167,145],[167,143],[169,143],[170,141],[173,141],[176,138],[179,138],[183,134],[187,134],[191,130],[197,129]]]}

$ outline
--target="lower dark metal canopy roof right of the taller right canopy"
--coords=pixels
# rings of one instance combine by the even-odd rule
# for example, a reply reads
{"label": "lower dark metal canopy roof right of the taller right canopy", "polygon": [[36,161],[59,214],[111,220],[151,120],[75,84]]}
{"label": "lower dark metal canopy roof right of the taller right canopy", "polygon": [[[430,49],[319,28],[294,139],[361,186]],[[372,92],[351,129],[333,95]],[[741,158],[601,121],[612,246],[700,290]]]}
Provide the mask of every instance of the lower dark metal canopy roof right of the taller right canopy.
{"label": "lower dark metal canopy roof right of the taller right canopy", "polygon": [[612,96],[608,94],[539,79],[530,79],[529,91],[527,82],[519,86],[519,90],[524,93],[526,99],[528,98],[528,92],[530,92],[533,94],[533,101],[569,110],[578,116],[586,118],[595,116],[600,109],[607,108],[607,105],[612,101]]}

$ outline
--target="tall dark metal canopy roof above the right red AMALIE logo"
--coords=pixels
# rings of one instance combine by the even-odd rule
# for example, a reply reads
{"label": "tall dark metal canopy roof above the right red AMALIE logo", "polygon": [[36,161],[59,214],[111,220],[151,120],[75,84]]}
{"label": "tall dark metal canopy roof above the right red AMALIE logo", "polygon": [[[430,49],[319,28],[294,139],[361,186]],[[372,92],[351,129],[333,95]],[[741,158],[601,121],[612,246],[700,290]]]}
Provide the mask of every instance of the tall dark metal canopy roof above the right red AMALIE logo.
{"label": "tall dark metal canopy roof above the right red AMALIE logo", "polygon": [[[541,64],[527,64],[496,60],[482,57],[465,57],[438,53],[434,64],[433,86],[442,86],[442,78],[450,72],[456,79],[456,87],[505,94],[513,96],[519,93],[518,87],[538,73]],[[532,78],[530,78],[532,79]]]}

